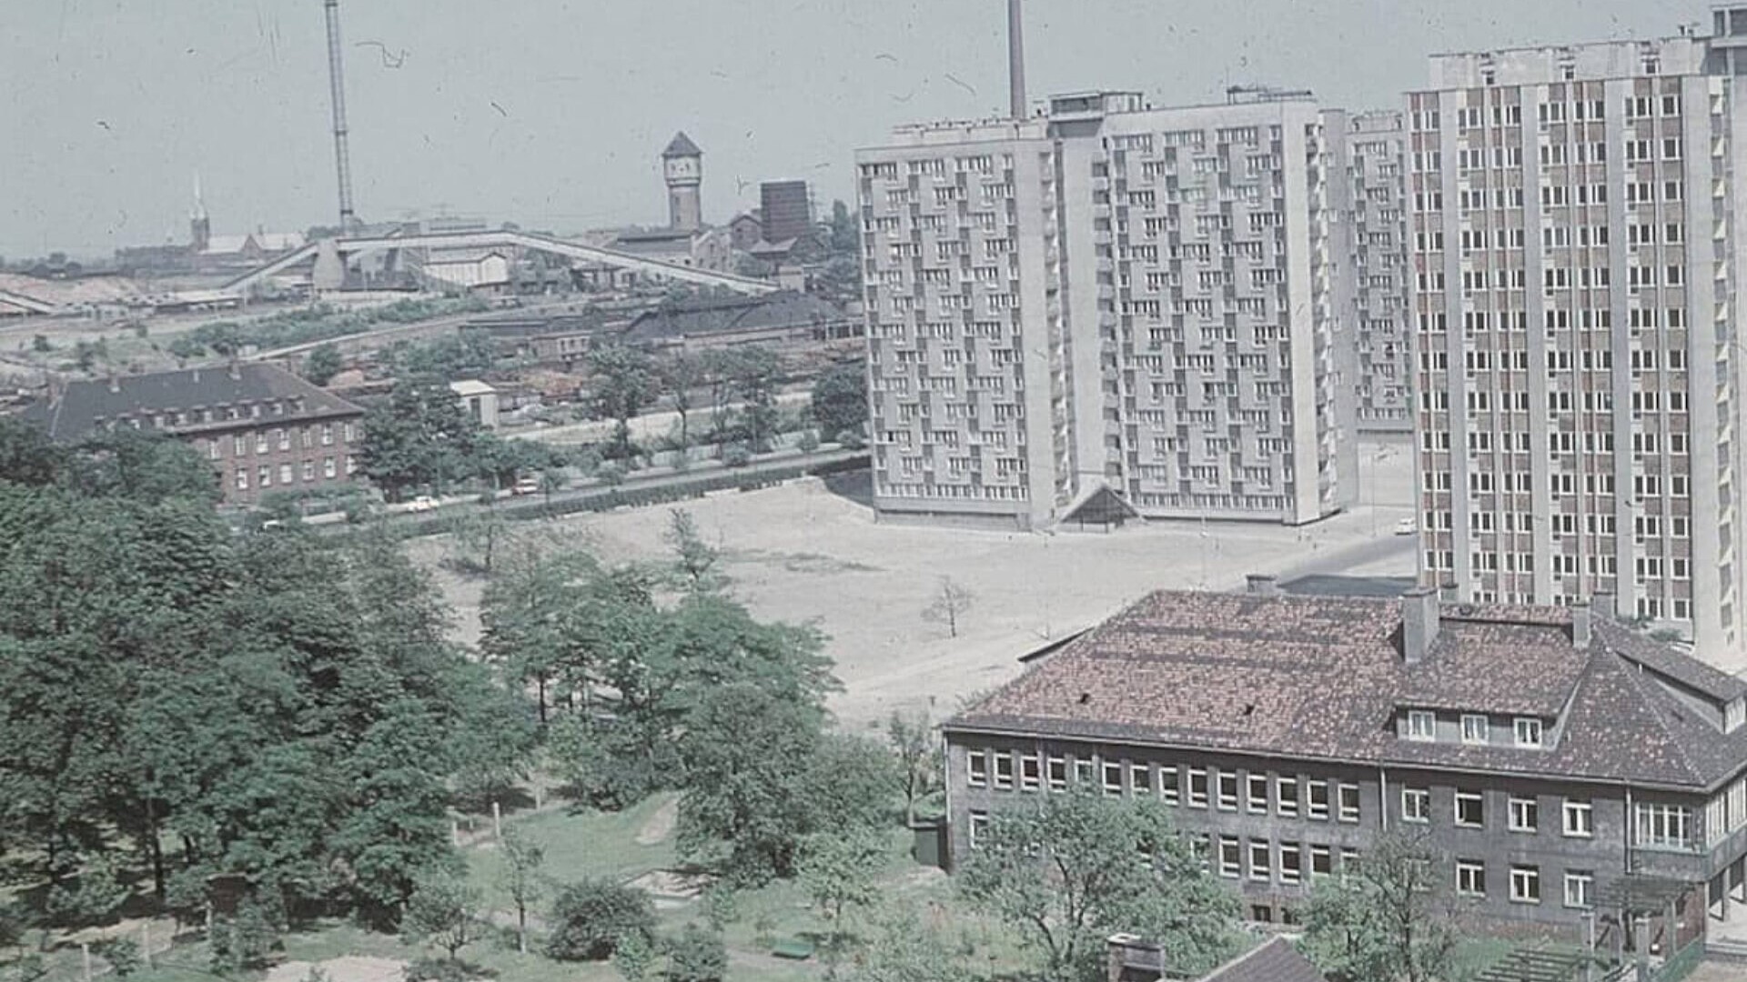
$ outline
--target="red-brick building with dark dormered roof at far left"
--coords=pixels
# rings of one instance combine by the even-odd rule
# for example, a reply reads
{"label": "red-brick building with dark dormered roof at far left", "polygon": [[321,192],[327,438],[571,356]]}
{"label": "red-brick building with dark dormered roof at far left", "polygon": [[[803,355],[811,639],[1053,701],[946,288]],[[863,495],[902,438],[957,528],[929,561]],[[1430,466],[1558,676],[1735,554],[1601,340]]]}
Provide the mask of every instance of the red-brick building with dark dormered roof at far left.
{"label": "red-brick building with dark dormered roof at far left", "polygon": [[211,461],[224,500],[351,484],[363,409],[276,365],[229,365],[75,381],[23,412],[61,442],[133,426]]}

